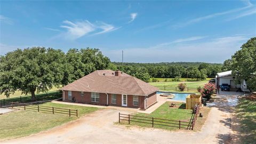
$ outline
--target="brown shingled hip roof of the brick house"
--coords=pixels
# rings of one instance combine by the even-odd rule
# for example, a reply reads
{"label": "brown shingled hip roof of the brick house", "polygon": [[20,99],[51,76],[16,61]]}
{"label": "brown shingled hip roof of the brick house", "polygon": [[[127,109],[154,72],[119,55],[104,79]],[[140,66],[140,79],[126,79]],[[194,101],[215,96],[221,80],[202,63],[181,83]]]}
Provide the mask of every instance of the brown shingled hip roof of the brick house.
{"label": "brown shingled hip roof of the brick house", "polygon": [[115,76],[113,70],[96,70],[62,87],[61,90],[145,96],[158,91],[156,87],[122,71],[119,74],[121,76]]}

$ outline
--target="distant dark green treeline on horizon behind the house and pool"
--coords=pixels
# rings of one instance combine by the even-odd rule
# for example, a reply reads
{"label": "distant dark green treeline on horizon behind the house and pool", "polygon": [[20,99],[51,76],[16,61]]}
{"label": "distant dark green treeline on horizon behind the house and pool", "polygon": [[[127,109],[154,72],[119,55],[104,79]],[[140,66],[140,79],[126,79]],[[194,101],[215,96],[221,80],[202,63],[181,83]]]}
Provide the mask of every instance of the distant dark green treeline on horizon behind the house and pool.
{"label": "distant dark green treeline on horizon behind the house and pool", "polygon": [[155,78],[194,78],[202,81],[206,77],[215,77],[221,72],[220,63],[203,62],[161,62],[161,63],[129,63],[112,62],[110,69],[119,69],[125,73],[148,82],[150,77]]}

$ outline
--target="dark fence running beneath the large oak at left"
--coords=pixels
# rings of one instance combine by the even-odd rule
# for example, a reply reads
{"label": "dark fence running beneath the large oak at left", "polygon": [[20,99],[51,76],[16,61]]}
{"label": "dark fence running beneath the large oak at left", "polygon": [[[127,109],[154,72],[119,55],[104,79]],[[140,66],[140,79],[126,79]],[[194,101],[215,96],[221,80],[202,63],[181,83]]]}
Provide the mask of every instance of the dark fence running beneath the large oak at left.
{"label": "dark fence running beneath the large oak at left", "polygon": [[[62,96],[62,91],[58,90],[58,91],[51,91],[46,93],[39,93],[39,94],[36,94],[35,96],[37,101],[59,99]],[[0,107],[10,105],[10,102],[25,103],[30,101],[31,101],[31,95],[24,95],[24,96],[15,97],[15,98],[2,99],[0,100]]]}

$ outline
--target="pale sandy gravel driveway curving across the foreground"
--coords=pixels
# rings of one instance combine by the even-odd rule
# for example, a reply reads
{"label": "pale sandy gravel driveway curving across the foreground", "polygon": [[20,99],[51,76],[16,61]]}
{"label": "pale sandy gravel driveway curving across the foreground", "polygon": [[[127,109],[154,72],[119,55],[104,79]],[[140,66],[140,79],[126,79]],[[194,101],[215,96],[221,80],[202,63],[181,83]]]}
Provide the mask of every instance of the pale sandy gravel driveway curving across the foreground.
{"label": "pale sandy gravel driveway curving across the foreground", "polygon": [[170,132],[152,128],[126,128],[116,125],[118,112],[101,109],[76,121],[28,137],[0,143],[228,143],[230,125],[223,123],[230,114],[212,107],[205,126],[199,132],[188,130]]}

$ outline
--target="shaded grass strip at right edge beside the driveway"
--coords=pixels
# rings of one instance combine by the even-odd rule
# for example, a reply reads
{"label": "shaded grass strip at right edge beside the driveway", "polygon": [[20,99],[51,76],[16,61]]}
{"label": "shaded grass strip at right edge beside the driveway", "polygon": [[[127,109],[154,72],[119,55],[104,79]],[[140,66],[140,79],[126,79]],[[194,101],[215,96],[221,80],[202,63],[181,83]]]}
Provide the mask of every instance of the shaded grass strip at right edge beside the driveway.
{"label": "shaded grass strip at right edge beside the driveway", "polygon": [[239,134],[241,143],[255,143],[256,101],[240,99],[235,112],[241,126]]}

